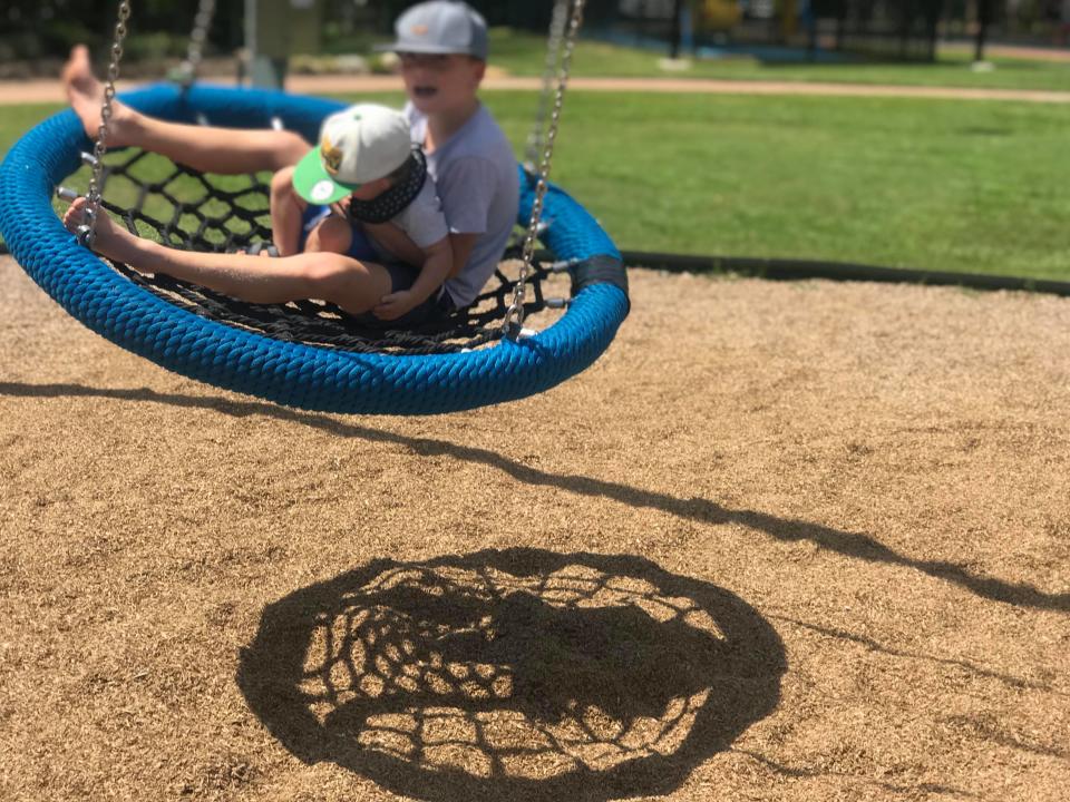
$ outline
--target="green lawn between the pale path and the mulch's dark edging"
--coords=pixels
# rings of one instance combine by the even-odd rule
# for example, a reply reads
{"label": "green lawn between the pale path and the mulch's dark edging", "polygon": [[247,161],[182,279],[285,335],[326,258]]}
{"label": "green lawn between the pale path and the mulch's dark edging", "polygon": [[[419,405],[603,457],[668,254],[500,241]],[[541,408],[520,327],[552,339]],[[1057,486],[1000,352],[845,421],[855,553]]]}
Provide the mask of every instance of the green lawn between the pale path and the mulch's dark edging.
{"label": "green lawn between the pale path and the mulch's dark edging", "polygon": [[[485,98],[519,153],[536,96]],[[0,148],[54,109],[6,108]],[[624,250],[1070,280],[1068,133],[1063,105],[573,91],[553,178]]]}

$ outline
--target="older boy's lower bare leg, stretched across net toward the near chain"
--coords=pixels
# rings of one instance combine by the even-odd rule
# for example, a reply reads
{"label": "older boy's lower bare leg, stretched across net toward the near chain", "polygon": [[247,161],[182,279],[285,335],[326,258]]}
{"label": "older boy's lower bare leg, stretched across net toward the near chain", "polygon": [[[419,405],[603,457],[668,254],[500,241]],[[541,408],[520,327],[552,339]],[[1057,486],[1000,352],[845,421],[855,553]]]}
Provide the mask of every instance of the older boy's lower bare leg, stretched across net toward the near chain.
{"label": "older boy's lower bare leg, stretched across net toward the near chain", "polygon": [[[64,224],[77,231],[86,199],[67,209]],[[322,299],[361,314],[390,293],[390,274],[381,265],[329,253],[304,253],[264,260],[244,254],[177,251],[142,239],[117,226],[107,214],[97,217],[94,248],[143,273],[164,273],[251,303]]]}

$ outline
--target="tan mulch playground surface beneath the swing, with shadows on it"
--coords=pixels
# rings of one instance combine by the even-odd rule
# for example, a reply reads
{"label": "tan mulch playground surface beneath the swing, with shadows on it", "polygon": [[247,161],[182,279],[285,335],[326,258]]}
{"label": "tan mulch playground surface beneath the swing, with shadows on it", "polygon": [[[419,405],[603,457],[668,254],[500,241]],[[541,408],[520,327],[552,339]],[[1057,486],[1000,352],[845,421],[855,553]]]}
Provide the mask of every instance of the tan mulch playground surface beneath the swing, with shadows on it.
{"label": "tan mulch playground surface beneath the swing, with shadows on it", "polygon": [[401,419],[0,258],[0,798],[1064,800],[1070,301],[631,280],[582,375]]}

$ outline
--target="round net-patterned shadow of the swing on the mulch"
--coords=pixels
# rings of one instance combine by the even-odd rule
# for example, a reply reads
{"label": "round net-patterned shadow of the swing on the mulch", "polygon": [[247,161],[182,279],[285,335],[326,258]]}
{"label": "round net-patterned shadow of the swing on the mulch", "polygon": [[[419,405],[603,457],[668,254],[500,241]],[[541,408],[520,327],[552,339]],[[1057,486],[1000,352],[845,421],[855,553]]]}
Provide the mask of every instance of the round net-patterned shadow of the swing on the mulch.
{"label": "round net-patterned shadow of the swing on the mulch", "polygon": [[661,795],[780,698],[750,606],[641,557],[379,559],[269,605],[237,683],[272,735],[425,800]]}

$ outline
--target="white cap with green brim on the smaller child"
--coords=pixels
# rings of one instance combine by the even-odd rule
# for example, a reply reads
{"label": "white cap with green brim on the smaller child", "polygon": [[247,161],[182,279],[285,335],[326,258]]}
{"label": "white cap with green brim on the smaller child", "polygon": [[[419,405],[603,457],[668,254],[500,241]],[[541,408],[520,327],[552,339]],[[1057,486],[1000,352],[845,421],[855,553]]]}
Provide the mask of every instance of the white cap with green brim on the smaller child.
{"label": "white cap with green brim on the smaller child", "polygon": [[411,153],[409,124],[400,111],[378,104],[350,106],[324,120],[319,147],[293,172],[293,188],[309,203],[332,204],[390,175]]}

